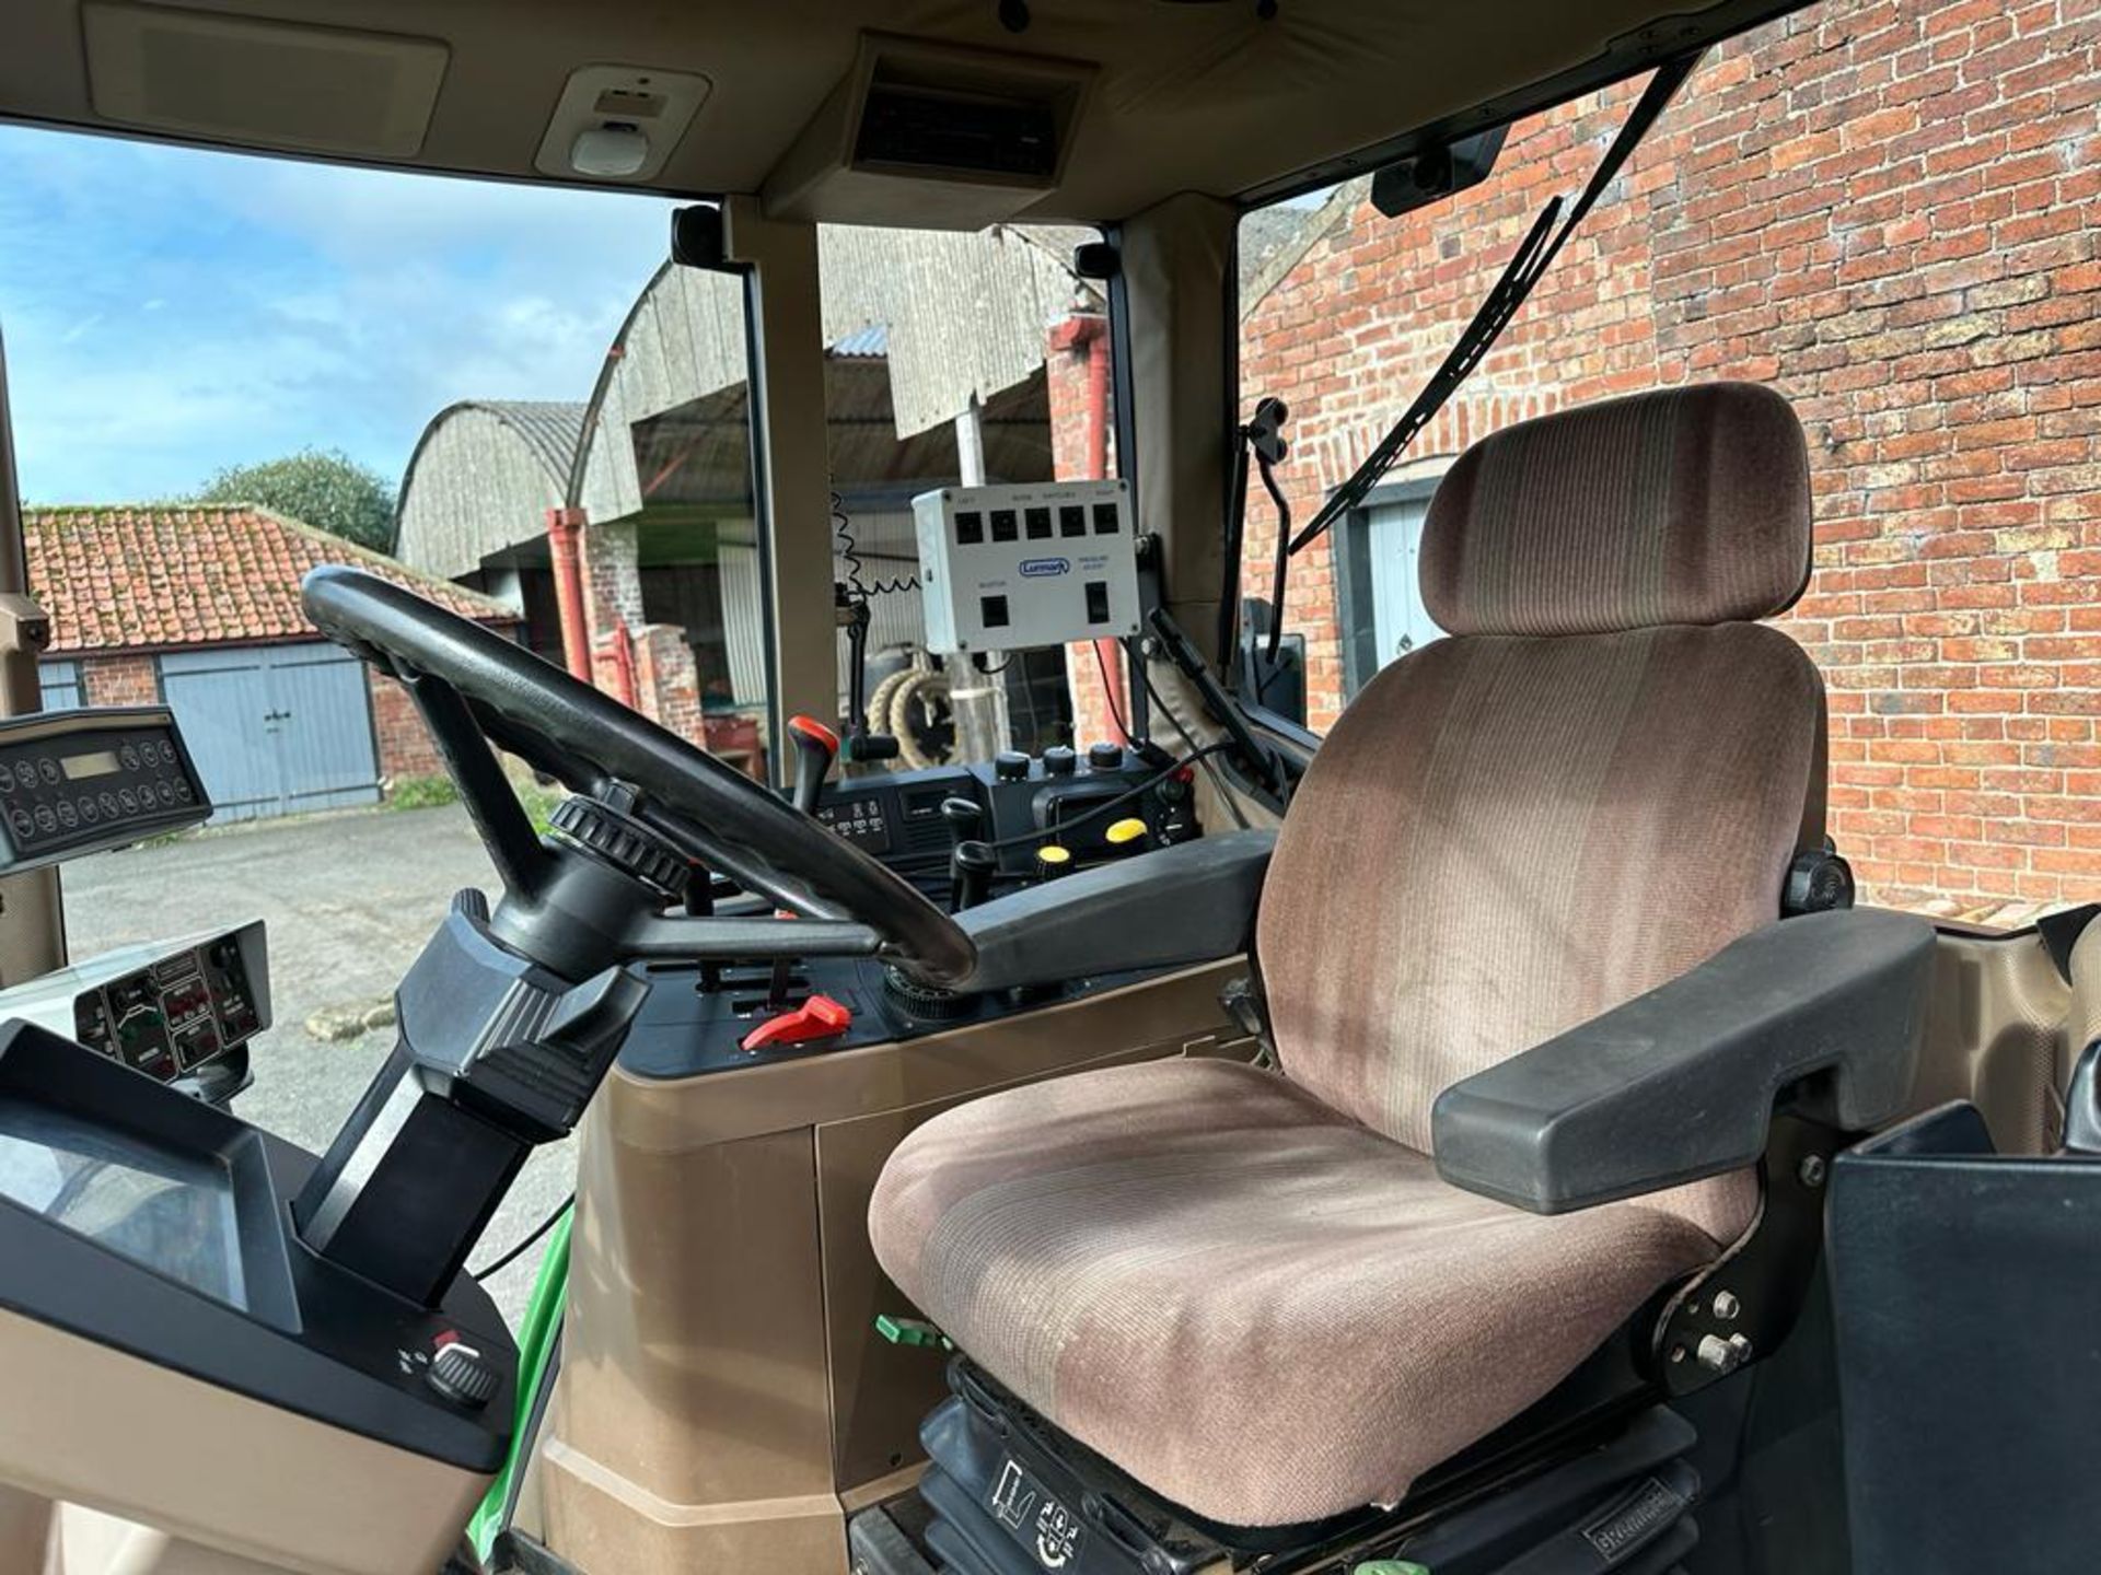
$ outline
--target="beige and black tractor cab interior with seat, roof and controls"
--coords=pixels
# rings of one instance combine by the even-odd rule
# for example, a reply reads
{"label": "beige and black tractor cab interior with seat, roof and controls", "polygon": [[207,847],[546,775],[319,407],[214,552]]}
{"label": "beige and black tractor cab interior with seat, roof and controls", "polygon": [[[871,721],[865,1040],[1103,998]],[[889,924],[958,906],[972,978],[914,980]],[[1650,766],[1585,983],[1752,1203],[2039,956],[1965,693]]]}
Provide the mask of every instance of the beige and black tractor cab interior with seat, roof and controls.
{"label": "beige and black tractor cab interior with seat, roof and controls", "polygon": [[[1855,905],[1824,680],[1765,622],[1815,573],[1788,399],[1477,437],[1420,525],[1441,638],[1319,733],[1282,699],[1294,554],[1706,50],[1794,8],[17,6],[8,120],[679,200],[664,277],[746,330],[716,645],[765,699],[731,760],[620,695],[635,653],[609,685],[574,607],[538,655],[313,569],[313,630],[412,697],[494,882],[309,1151],[235,1109],[271,1075],[261,926],[67,964],[61,865],[212,796],[166,706],[40,706],[0,445],[0,1569],[2093,1567],[2095,909]],[[1256,561],[1290,416],[1237,386],[1242,216],[1357,176],[1433,208],[1622,82],[1435,376]],[[958,437],[872,586],[819,225],[1072,231],[1093,472],[987,479]],[[658,481],[716,416],[656,435]],[[872,666],[895,598],[939,764]],[[1116,735],[1000,748],[983,695],[1061,651]],[[571,1136],[513,1325],[469,1262]]]}

